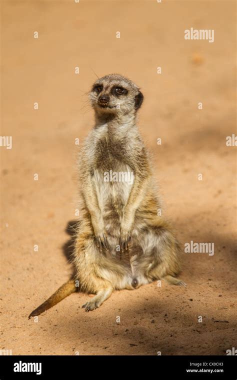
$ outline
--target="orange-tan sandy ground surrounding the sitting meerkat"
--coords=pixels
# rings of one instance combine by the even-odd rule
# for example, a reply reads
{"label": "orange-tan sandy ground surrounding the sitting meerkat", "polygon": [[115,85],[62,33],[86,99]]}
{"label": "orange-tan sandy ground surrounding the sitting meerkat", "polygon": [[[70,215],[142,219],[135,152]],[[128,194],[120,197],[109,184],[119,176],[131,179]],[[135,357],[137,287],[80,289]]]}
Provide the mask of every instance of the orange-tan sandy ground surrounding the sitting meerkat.
{"label": "orange-tan sandy ground surrounding the sitting meerkat", "polygon": [[[12,149],[0,147],[0,348],[14,355],[223,355],[237,347],[236,147],[225,144],[236,133],[234,4],[1,2],[1,135],[12,136]],[[191,26],[214,29],[214,42],[184,40]],[[186,288],[162,281],[116,291],[89,313],[81,308],[88,295],[72,294],[36,322],[29,312],[71,273],[74,139],[82,142],[92,127],[84,93],[93,71],[119,72],[141,87],[139,127],[164,214],[182,247],[214,242],[214,255],[182,253]]]}

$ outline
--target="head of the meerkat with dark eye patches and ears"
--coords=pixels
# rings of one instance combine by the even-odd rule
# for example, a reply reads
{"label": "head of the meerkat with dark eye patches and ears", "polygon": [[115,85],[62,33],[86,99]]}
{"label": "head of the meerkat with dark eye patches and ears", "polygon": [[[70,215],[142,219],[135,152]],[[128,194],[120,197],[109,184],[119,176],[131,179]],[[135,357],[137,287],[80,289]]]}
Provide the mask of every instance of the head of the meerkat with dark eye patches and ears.
{"label": "head of the meerkat with dark eye patches and ears", "polygon": [[95,81],[89,98],[97,113],[127,114],[137,111],[143,95],[131,80],[119,74],[110,74]]}

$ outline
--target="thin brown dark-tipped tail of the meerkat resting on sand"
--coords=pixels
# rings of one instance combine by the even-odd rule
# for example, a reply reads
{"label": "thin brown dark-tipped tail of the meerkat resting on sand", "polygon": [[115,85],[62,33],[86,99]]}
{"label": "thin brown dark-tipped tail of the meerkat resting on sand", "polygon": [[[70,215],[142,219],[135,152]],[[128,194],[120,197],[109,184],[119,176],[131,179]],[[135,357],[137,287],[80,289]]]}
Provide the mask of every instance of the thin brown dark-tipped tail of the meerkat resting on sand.
{"label": "thin brown dark-tipped tail of the meerkat resting on sand", "polygon": [[78,290],[78,287],[75,286],[75,281],[73,279],[68,280],[63,283],[56,291],[53,293],[46,301],[34,309],[28,316],[28,319],[31,316],[39,315],[43,311],[46,311],[50,307],[54,306],[56,303],[60,302],[63,298],[67,297],[74,291]]}

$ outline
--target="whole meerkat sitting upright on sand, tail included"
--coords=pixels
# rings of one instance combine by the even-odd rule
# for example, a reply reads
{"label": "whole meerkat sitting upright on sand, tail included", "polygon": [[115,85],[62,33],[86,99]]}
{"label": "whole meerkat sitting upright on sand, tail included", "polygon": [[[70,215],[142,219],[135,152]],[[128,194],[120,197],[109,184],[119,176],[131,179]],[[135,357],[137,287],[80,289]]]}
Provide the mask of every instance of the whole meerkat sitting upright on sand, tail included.
{"label": "whole meerkat sitting upright on sand, tail included", "polygon": [[99,307],[113,290],[136,289],[161,278],[185,286],[175,277],[179,243],[169,223],[157,215],[160,202],[150,159],[136,125],[140,89],[124,76],[110,74],[95,81],[89,99],[95,125],[78,159],[82,204],[73,251],[75,277],[29,317],[78,291],[76,280],[79,291],[95,294],[82,306],[85,311]]}

